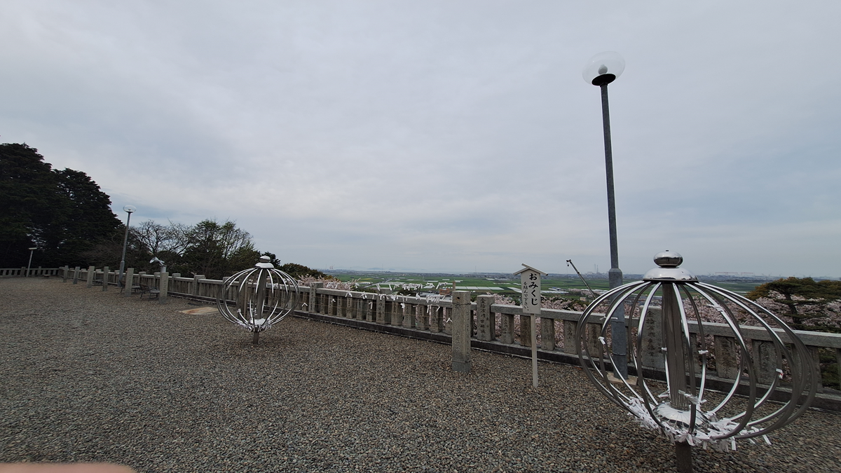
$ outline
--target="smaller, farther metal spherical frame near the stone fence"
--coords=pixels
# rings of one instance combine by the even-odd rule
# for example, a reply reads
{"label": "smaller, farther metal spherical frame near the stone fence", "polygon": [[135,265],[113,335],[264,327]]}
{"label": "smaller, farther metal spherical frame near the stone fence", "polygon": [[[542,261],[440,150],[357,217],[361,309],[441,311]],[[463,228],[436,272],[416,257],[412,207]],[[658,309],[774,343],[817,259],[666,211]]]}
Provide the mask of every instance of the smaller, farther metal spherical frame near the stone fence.
{"label": "smaller, farther metal spherical frame near the stone fence", "polygon": [[[234,297],[234,300],[230,300]],[[225,280],[216,306],[229,322],[257,333],[272,327],[295,310],[299,302],[298,282],[275,269],[271,263],[257,263]]]}

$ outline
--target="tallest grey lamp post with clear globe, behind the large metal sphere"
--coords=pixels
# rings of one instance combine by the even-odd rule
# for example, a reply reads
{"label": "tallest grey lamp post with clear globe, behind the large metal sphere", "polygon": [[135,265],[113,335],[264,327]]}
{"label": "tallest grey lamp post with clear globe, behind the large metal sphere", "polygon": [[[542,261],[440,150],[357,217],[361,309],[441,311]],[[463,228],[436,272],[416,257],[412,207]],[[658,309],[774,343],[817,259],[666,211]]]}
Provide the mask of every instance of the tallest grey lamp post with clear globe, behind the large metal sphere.
{"label": "tallest grey lamp post with clear globe, behind the large metal sphere", "polygon": [[[607,174],[607,223],[611,237],[611,270],[607,273],[610,288],[622,285],[619,268],[619,247],[616,243],[616,197],[613,193],[613,150],[611,148],[611,114],[607,106],[607,84],[625,70],[625,60],[618,53],[607,51],[590,58],[584,66],[584,81],[601,88],[601,121],[605,131],[605,171]],[[627,378],[627,329],[625,312],[616,311],[611,321],[613,372]]]}

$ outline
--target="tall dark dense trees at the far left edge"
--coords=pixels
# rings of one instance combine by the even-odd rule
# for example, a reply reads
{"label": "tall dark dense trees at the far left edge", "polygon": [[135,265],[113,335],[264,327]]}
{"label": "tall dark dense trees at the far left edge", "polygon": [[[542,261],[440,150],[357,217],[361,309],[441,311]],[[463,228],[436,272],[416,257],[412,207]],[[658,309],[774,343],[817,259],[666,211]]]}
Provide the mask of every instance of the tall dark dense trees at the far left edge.
{"label": "tall dark dense trees at the far left edge", "polygon": [[87,174],[54,170],[38,150],[25,144],[0,145],[0,267],[27,263],[84,266],[87,253],[124,226],[111,199]]}

